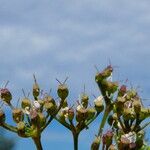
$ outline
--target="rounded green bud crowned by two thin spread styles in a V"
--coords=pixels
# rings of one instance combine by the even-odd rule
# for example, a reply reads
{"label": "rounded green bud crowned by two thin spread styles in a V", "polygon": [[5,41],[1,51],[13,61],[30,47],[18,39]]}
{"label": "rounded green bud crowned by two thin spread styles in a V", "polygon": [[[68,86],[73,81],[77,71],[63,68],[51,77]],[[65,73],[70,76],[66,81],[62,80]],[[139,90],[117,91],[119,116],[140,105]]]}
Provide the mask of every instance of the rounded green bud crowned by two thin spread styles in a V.
{"label": "rounded green bud crowned by two thin spread styles in a V", "polygon": [[65,100],[69,94],[67,86],[65,84],[60,84],[58,86],[57,94],[62,100]]}

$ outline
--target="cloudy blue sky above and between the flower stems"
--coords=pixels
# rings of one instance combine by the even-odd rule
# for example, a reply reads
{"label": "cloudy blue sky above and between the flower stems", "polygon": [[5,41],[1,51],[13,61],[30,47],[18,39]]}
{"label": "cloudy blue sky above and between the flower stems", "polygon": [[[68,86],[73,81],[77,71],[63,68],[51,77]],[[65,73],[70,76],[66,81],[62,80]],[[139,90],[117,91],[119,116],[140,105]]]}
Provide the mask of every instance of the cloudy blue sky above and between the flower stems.
{"label": "cloudy blue sky above and between the flower stems", "polygon": [[[22,88],[32,89],[35,73],[41,88],[56,96],[55,78],[68,76],[71,104],[84,84],[89,95],[99,95],[94,65],[102,70],[111,61],[117,66],[113,80],[128,79],[150,99],[149,6],[149,0],[0,0],[1,87],[9,80],[16,102]],[[98,121],[82,133],[80,149],[89,149],[97,130]],[[16,150],[34,149],[30,139],[15,138]],[[54,121],[43,133],[43,146],[73,149],[71,134]]]}

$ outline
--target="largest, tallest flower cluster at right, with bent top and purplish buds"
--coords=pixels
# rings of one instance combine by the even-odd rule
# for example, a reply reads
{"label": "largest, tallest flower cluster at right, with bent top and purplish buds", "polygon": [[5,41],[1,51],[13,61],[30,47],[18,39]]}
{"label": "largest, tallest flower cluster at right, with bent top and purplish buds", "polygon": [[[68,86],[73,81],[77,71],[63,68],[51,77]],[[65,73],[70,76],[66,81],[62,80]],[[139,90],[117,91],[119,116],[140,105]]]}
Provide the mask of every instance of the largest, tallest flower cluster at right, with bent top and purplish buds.
{"label": "largest, tallest flower cluster at right, with bent top and purplish buds", "polygon": [[[109,65],[95,77],[105,101],[105,113],[98,136],[100,139],[102,138],[103,149],[112,149],[112,147],[120,150],[141,148],[144,138],[139,133],[149,124],[148,122],[143,125],[143,121],[150,117],[150,109],[142,105],[142,100],[135,89],[128,89],[126,85],[119,86],[117,82],[110,81],[112,72],[113,68]],[[102,136],[106,119],[113,133],[109,131]],[[112,146],[113,135],[117,136],[116,145],[118,147]]]}

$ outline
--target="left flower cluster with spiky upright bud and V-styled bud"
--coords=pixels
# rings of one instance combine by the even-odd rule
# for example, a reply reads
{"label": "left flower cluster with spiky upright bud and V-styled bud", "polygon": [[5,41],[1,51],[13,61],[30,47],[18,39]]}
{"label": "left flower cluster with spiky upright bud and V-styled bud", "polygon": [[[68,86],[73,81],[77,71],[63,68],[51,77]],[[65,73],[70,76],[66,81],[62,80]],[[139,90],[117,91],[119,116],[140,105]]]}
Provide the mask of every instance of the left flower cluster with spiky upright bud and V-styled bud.
{"label": "left flower cluster with spiky upright bud and V-styled bud", "polygon": [[48,94],[40,94],[40,87],[34,76],[33,99],[25,96],[21,99],[21,106],[15,108],[13,106],[12,94],[7,88],[0,90],[1,102],[9,106],[12,110],[12,119],[16,126],[12,126],[6,122],[6,115],[2,108],[0,109],[0,126],[7,130],[17,133],[21,137],[31,137],[35,142],[40,139],[43,130],[55,118],[59,110],[68,96],[68,88],[65,84],[58,86],[57,94],[60,103],[56,104],[53,97]]}

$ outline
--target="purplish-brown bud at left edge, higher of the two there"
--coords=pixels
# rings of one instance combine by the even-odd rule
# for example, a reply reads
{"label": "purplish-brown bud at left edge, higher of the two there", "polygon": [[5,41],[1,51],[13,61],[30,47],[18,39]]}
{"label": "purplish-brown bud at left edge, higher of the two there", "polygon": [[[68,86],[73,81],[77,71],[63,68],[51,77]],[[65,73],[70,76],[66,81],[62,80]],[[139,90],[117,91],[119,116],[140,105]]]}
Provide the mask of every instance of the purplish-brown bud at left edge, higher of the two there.
{"label": "purplish-brown bud at left edge, higher of the two there", "polygon": [[10,101],[12,100],[12,95],[10,91],[7,88],[0,90],[1,99],[6,102],[7,104],[10,104]]}

